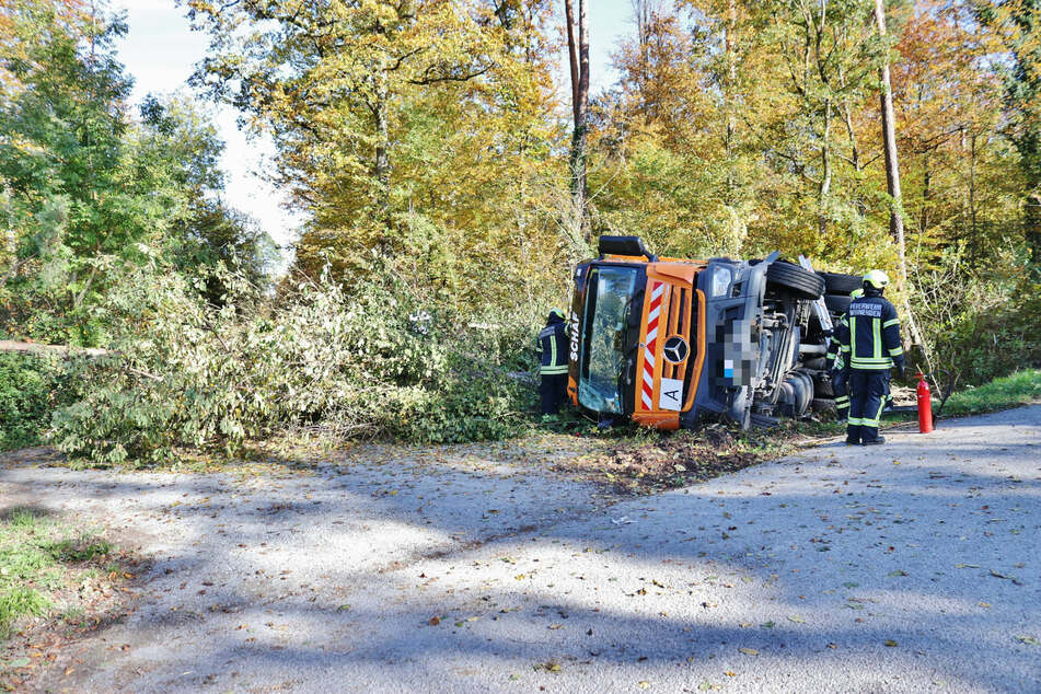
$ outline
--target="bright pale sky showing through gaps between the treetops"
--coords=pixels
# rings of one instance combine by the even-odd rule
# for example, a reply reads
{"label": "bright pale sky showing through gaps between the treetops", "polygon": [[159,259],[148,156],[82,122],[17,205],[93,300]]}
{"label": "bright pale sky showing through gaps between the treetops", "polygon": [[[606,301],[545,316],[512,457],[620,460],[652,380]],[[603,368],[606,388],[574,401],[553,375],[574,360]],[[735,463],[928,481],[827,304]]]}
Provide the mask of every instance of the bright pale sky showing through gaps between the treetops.
{"label": "bright pale sky showing through gaps between the treetops", "polygon": [[[189,92],[186,82],[206,53],[207,39],[192,31],[184,9],[174,0],[114,0],[113,8],[127,12],[129,33],[118,51],[135,79],[134,106],[149,93]],[[633,11],[631,0],[589,0],[588,13],[590,92],[595,94],[614,82],[610,56],[632,32]],[[290,245],[302,218],[285,209],[286,196],[264,178],[271,170],[273,143],[240,131],[234,109],[209,107],[227,147],[221,161],[228,176],[224,201],[253,216],[276,243]]]}

